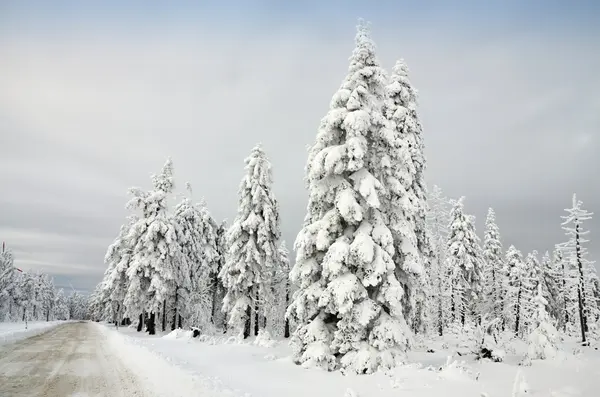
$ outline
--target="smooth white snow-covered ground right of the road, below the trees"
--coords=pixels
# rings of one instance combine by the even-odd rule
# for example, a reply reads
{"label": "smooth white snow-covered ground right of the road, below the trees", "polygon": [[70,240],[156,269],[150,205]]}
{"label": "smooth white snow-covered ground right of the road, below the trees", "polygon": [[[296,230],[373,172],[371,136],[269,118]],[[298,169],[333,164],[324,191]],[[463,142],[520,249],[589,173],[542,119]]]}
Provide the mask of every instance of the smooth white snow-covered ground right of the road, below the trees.
{"label": "smooth white snow-covered ground right of the road, below the trees", "polygon": [[172,396],[592,397],[600,390],[600,353],[594,346],[577,349],[575,343],[565,343],[557,359],[520,366],[523,354],[517,352],[524,351],[524,344],[517,343],[503,363],[492,363],[476,361],[466,347],[441,349],[441,343],[430,342],[435,353],[411,352],[412,365],[387,374],[344,376],[295,365],[285,341],[266,347],[226,338],[192,339],[191,332],[149,336],[114,327],[106,332],[129,356],[128,365],[150,381],[176,379],[162,382],[167,392],[170,385]]}

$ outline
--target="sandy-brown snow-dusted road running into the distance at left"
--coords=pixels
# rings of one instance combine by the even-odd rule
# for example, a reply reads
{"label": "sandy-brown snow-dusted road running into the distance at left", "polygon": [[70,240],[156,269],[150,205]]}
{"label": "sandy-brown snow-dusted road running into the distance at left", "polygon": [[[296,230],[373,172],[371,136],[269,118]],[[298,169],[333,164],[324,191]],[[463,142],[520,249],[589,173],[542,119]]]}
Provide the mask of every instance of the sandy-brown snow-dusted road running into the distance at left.
{"label": "sandy-brown snow-dusted road running into the distance at left", "polygon": [[90,323],[68,323],[0,347],[2,397],[149,397]]}

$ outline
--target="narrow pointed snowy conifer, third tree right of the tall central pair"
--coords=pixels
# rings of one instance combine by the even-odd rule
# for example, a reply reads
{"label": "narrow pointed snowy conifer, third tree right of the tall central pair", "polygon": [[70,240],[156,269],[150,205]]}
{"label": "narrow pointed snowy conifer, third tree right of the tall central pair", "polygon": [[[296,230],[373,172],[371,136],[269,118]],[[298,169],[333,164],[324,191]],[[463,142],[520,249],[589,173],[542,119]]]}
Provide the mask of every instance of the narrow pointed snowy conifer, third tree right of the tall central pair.
{"label": "narrow pointed snowy conifer, third tree right of the tall central pair", "polygon": [[503,318],[504,293],[506,280],[502,271],[504,268],[504,254],[500,242],[500,231],[496,225],[496,214],[492,208],[488,209],[485,221],[485,234],[483,238],[484,279],[486,297],[486,311],[492,318]]}

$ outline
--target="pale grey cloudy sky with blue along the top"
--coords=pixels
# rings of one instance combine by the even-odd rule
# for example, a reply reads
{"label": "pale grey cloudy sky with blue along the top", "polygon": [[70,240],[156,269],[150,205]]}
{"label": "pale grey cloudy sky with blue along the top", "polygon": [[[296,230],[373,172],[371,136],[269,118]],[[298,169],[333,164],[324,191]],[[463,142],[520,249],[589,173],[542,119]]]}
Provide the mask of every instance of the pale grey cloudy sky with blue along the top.
{"label": "pale grey cloudy sky with blue along the top", "polygon": [[465,196],[480,236],[491,206],[505,247],[543,252],[573,193],[600,211],[599,2],[0,0],[0,239],[16,265],[93,289],[128,188],[169,156],[178,194],[190,182],[232,220],[259,142],[292,246],[306,147],[359,17],[384,67],[410,68],[427,184]]}

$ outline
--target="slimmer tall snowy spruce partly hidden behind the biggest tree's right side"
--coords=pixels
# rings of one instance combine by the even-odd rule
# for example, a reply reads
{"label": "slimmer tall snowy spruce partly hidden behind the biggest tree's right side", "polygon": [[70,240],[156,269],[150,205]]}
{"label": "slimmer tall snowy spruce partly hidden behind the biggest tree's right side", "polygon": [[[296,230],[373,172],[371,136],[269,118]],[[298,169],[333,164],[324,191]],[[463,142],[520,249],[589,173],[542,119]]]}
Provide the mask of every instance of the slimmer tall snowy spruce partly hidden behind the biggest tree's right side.
{"label": "slimmer tall snowy spruce partly hidden behind the biggest tree's right side", "polygon": [[[396,62],[385,87],[383,113],[388,128],[381,129],[380,138],[375,140],[379,153],[372,164],[373,175],[387,188],[389,208],[382,206],[382,211],[389,219],[394,238],[393,259],[397,277],[404,287],[405,318],[413,331],[423,332],[426,269],[433,250],[426,222],[427,190],[423,176],[426,161],[422,126],[417,115],[417,91],[408,78],[408,67],[403,60]],[[378,123],[376,117],[373,120]]]}

